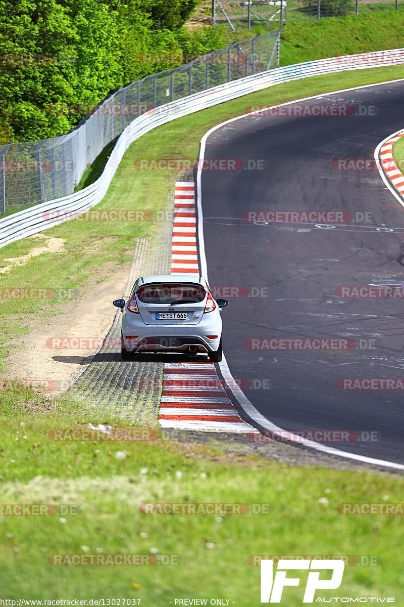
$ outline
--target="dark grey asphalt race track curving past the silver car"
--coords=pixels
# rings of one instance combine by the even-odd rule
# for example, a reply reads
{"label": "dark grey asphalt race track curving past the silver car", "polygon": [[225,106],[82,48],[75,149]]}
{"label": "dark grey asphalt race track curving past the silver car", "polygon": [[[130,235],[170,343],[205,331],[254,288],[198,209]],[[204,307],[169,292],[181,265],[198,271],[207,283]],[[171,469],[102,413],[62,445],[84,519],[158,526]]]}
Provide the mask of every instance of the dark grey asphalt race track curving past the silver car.
{"label": "dark grey asphalt race track curving past the silver car", "polygon": [[[318,104],[347,104],[349,115],[265,113],[240,118],[208,137],[205,159],[234,159],[237,169],[202,171],[210,285],[242,288],[242,296],[228,298],[222,312],[224,351],[245,395],[277,426],[292,432],[349,431],[348,442],[325,444],[404,463],[404,391],[349,390],[344,385],[355,384],[343,382],[404,379],[404,299],[344,298],[338,291],[404,286],[404,208],[376,166],[337,170],[333,163],[372,160],[377,144],[404,126],[404,82],[293,106]],[[261,161],[263,169],[240,168],[248,161],[250,166]],[[327,223],[334,227],[323,221],[318,227],[317,222],[248,222],[243,219],[248,211],[345,215],[342,223]],[[220,296],[226,293],[216,291]],[[251,343],[267,347],[265,339],[318,337],[351,341],[345,350],[251,349]]]}

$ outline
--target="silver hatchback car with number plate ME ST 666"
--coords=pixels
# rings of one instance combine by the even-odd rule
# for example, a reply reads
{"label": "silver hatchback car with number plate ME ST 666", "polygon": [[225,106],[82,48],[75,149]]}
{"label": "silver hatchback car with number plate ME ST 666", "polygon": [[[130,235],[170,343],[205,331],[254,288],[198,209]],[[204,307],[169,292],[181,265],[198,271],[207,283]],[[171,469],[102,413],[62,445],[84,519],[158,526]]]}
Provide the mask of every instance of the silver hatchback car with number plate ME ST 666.
{"label": "silver hatchback car with number plate ME ST 666", "polygon": [[140,352],[206,353],[222,360],[222,319],[226,299],[214,300],[208,283],[197,274],[143,276],[128,302],[113,304],[123,312],[122,360]]}

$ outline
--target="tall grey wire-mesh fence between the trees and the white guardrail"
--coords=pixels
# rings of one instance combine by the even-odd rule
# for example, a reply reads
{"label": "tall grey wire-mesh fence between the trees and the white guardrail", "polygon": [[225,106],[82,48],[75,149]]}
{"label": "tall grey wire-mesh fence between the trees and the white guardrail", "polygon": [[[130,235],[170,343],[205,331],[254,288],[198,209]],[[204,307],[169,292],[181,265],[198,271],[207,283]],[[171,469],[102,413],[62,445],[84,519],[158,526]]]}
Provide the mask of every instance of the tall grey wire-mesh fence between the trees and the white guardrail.
{"label": "tall grey wire-mesh fence between the trees and the white guardrail", "polygon": [[[189,63],[145,76],[94,108],[80,103],[49,104],[49,114],[75,115],[82,121],[60,137],[0,146],[0,217],[72,194],[87,166],[134,118],[148,110],[277,67],[279,64],[270,64],[270,58],[276,59],[273,50],[279,31],[233,42]],[[170,64],[180,63],[185,56],[145,53],[138,60]]]}

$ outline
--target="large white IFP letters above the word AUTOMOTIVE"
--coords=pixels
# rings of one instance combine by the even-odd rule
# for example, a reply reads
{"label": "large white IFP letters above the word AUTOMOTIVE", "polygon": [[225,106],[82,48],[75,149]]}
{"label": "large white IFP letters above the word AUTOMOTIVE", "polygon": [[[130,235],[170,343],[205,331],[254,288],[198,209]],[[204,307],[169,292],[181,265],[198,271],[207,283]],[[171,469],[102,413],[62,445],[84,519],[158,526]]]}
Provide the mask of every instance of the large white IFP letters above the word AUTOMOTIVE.
{"label": "large white IFP letters above the word AUTOMOTIVE", "polygon": [[[290,571],[290,569],[310,569],[303,603],[313,603],[316,590],[334,590],[340,587],[344,567],[344,561],[339,558],[329,561],[280,559],[274,577],[274,561],[262,560],[261,603],[280,603],[285,586],[299,586],[299,577],[286,577],[286,572]],[[324,571],[325,569],[331,569],[333,572],[331,578],[320,580],[320,571]]]}

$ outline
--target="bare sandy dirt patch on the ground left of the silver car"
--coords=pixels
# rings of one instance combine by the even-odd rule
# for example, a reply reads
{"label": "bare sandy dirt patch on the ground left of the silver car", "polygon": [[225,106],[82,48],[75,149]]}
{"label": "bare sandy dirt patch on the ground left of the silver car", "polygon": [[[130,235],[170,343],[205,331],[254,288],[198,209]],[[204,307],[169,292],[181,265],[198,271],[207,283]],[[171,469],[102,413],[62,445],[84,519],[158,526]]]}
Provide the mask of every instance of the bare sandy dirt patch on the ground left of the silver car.
{"label": "bare sandy dirt patch on the ground left of the silver car", "polygon": [[105,263],[82,285],[78,298],[33,327],[8,356],[7,379],[35,382],[49,398],[65,392],[101,347],[116,313],[112,301],[122,296],[130,267],[130,262]]}

